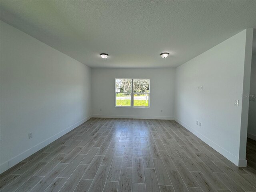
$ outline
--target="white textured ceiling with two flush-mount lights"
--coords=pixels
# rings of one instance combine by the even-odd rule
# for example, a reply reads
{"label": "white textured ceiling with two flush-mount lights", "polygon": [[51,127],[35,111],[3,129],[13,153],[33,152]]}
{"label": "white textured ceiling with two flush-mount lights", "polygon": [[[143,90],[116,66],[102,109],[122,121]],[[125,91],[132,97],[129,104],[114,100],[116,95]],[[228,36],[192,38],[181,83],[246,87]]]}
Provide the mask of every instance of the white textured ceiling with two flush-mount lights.
{"label": "white textured ceiling with two flush-mount lights", "polygon": [[256,28],[256,1],[1,0],[1,20],[90,67],[177,67]]}

